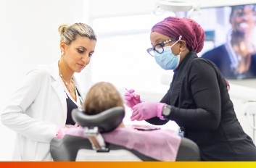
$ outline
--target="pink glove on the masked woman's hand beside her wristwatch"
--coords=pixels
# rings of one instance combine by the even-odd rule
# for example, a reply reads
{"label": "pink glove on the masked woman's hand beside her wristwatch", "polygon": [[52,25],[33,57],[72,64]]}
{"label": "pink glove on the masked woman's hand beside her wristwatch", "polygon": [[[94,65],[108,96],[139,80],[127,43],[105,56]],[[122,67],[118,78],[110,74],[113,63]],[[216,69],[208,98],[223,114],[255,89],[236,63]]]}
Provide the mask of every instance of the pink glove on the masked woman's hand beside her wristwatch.
{"label": "pink glove on the masked woman's hand beside her wristwatch", "polygon": [[166,104],[159,102],[142,102],[140,104],[136,104],[133,106],[133,114],[131,114],[131,121],[137,120],[145,120],[150,119],[152,117],[162,118],[162,109]]}

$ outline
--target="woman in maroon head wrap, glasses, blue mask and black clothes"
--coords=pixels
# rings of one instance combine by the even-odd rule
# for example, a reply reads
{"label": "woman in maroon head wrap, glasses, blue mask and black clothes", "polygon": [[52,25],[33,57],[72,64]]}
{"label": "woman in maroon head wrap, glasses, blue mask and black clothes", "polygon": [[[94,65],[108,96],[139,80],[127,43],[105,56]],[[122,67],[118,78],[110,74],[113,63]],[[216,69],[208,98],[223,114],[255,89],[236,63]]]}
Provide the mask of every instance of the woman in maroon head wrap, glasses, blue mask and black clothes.
{"label": "woman in maroon head wrap, glasses, blue mask and black clothes", "polygon": [[[242,129],[228,94],[228,82],[202,51],[205,32],[189,18],[167,17],[152,28],[147,49],[164,70],[173,70],[170,88],[160,102],[125,93],[131,120],[153,125],[175,121],[184,137],[200,149],[202,161],[256,161],[256,147]],[[136,95],[136,96],[134,96]]]}

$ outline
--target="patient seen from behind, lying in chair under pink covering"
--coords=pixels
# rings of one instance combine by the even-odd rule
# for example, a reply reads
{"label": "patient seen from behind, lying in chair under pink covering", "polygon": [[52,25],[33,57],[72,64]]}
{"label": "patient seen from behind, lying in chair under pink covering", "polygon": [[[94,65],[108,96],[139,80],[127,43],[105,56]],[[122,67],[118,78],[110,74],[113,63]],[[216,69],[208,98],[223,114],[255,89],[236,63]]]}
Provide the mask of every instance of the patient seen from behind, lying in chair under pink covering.
{"label": "patient seen from behind, lying in chair under pink covering", "polygon": [[[125,109],[122,96],[111,83],[99,82],[89,89],[83,102],[83,112],[94,115],[115,106],[122,106]],[[181,143],[178,133],[173,130],[152,131],[133,130],[121,122],[115,130],[102,133],[102,136],[108,143],[134,149],[154,159],[175,161]],[[84,137],[82,127],[66,128],[57,137],[62,138],[65,134]]]}

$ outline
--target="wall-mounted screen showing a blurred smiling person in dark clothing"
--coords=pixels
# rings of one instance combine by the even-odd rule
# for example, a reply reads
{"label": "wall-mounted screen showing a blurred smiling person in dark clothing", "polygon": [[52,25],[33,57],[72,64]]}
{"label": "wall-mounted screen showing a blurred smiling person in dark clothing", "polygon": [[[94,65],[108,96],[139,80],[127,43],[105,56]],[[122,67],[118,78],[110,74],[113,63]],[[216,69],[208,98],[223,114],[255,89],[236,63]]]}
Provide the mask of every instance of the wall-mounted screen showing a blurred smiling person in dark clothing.
{"label": "wall-mounted screen showing a blurred smiling person in dark clothing", "polygon": [[200,9],[205,29],[199,53],[214,62],[228,79],[256,78],[256,4]]}

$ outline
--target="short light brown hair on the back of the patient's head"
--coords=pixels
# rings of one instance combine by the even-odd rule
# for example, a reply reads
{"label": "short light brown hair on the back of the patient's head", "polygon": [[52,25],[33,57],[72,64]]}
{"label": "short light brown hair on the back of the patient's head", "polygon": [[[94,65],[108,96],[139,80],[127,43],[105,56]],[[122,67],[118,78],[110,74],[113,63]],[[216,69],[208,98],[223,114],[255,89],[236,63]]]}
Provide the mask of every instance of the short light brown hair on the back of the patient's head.
{"label": "short light brown hair on the back of the patient's head", "polygon": [[123,106],[123,98],[120,93],[112,83],[99,82],[89,89],[83,102],[83,111],[93,115],[115,106]]}

